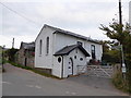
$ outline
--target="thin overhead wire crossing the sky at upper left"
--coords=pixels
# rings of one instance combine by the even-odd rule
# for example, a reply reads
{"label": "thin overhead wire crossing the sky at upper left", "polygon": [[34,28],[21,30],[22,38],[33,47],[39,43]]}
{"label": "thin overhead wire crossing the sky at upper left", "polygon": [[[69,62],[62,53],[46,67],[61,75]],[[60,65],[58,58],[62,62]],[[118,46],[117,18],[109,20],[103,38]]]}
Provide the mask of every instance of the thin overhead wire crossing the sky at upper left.
{"label": "thin overhead wire crossing the sky at upper left", "polygon": [[36,23],[35,21],[33,21],[33,20],[31,20],[31,19],[28,19],[28,17],[26,17],[26,16],[20,14],[19,12],[12,10],[12,9],[9,8],[8,5],[3,4],[2,2],[0,2],[0,4],[2,4],[3,7],[5,7],[8,10],[12,11],[13,13],[17,14],[19,16],[21,16],[21,17],[23,17],[23,19],[29,21],[29,22],[32,22],[32,23],[35,24],[35,25],[39,25],[39,26],[40,26],[40,24],[38,24],[38,23]]}

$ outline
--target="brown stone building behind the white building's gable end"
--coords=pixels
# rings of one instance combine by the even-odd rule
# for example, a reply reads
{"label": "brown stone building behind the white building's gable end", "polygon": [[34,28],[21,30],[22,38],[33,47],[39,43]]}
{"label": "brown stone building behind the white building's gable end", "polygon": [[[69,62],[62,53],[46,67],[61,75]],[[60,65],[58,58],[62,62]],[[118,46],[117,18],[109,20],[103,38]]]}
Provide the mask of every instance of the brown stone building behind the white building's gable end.
{"label": "brown stone building behind the white building's gable end", "polygon": [[16,52],[16,63],[34,68],[35,42],[21,42],[20,50]]}

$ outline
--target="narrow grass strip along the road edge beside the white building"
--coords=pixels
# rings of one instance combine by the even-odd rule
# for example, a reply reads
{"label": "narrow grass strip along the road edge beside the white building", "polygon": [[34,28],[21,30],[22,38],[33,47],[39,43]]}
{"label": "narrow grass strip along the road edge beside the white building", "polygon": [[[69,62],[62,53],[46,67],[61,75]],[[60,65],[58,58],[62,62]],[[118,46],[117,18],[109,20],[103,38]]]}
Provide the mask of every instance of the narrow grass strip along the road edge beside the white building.
{"label": "narrow grass strip along the road edge beside the white building", "polygon": [[21,69],[25,69],[25,70],[29,70],[29,71],[32,71],[32,72],[34,72],[34,73],[40,74],[40,75],[46,76],[46,77],[51,77],[51,78],[61,79],[61,78],[59,78],[59,77],[57,77],[57,76],[53,76],[53,75],[51,75],[51,74],[47,74],[47,73],[40,72],[40,71],[35,70],[35,69],[29,68],[29,66],[23,66],[23,65],[21,65],[21,64],[16,64],[16,63],[11,62],[11,61],[8,61],[8,62],[9,62],[11,65],[14,65],[14,66],[17,66],[17,68],[21,68]]}

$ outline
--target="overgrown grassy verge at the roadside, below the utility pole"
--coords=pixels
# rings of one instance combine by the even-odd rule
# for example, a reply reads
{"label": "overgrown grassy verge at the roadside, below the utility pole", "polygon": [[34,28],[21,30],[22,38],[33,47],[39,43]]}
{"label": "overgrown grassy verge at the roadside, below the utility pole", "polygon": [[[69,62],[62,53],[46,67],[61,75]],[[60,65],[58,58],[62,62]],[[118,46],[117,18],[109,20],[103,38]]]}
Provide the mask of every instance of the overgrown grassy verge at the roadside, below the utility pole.
{"label": "overgrown grassy verge at the roadside, below the utility pole", "polygon": [[129,93],[131,95],[131,88],[128,79],[124,79],[122,77],[122,73],[118,72],[112,77],[112,84],[116,86],[116,88]]}

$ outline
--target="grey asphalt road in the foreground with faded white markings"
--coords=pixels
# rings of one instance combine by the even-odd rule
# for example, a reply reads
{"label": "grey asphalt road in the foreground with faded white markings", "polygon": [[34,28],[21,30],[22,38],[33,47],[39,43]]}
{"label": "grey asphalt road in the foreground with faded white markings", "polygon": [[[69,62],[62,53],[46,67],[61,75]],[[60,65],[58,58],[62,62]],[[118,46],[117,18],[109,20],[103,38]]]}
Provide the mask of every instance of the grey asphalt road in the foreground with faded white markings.
{"label": "grey asphalt road in the foreground with faded white markings", "polygon": [[75,81],[45,77],[10,64],[5,64],[4,68],[2,96],[127,96],[120,91]]}

